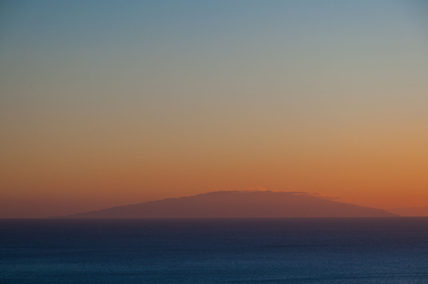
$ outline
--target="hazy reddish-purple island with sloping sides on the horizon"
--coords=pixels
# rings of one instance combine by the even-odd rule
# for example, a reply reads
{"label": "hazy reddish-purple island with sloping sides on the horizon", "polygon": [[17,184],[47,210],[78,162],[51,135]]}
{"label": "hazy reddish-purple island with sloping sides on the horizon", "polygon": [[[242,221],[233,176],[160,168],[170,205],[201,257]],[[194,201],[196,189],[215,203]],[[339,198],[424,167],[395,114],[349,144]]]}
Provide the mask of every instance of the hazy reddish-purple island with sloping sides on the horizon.
{"label": "hazy reddish-purple island with sloping sides on the horizon", "polygon": [[48,218],[168,217],[377,217],[383,209],[331,201],[296,192],[220,190]]}

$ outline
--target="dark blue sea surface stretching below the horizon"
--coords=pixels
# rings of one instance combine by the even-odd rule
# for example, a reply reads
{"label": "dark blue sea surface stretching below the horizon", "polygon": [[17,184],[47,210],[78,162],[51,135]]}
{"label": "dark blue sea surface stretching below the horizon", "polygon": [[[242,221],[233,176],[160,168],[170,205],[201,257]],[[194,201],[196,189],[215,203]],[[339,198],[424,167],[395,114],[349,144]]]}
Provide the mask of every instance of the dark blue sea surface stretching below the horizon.
{"label": "dark blue sea surface stretching below the horizon", "polygon": [[0,283],[428,283],[428,217],[0,219]]}

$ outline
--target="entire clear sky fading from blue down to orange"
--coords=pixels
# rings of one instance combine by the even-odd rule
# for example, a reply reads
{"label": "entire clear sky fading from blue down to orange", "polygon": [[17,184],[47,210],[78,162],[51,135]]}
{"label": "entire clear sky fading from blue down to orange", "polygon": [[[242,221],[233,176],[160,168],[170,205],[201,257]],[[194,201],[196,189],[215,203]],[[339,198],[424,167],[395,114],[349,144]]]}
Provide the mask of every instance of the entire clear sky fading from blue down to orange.
{"label": "entire clear sky fading from blue down to orange", "polygon": [[428,3],[0,1],[0,218],[216,190],[428,206]]}

